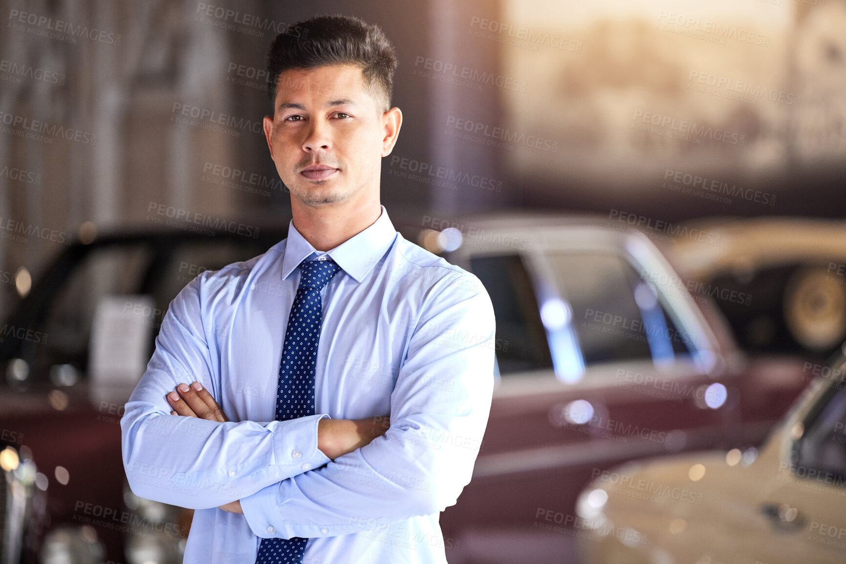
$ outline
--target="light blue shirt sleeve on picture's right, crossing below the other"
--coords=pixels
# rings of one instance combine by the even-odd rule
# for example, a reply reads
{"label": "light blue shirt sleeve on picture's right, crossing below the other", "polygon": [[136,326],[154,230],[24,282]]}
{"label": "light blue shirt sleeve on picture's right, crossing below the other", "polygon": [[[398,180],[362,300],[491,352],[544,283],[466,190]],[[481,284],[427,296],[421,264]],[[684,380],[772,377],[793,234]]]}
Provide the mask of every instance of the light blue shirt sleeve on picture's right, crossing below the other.
{"label": "light blue shirt sleeve on picture's right, crossing below the other", "polygon": [[431,515],[458,499],[491,408],[493,307],[469,272],[433,288],[429,300],[398,372],[385,435],[244,497],[257,536],[353,534]]}

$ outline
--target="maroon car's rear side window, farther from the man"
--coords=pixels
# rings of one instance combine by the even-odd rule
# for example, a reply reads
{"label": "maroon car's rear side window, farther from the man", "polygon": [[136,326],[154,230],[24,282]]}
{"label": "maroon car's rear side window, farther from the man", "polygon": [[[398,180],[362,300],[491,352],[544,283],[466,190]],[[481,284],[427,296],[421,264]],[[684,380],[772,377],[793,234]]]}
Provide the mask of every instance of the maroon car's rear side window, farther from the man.
{"label": "maroon car's rear side window, farther from the man", "polygon": [[558,287],[573,309],[585,364],[652,359],[672,363],[688,354],[655,287],[621,255],[554,252],[547,255]]}

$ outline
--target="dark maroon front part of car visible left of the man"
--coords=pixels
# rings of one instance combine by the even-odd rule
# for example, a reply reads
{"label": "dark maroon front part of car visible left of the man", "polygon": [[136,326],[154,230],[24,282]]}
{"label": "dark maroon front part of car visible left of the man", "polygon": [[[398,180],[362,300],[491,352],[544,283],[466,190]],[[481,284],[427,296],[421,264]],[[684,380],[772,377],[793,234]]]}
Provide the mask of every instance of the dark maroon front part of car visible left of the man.
{"label": "dark maroon front part of car visible left of the man", "polygon": [[[260,233],[125,233],[71,245],[5,320],[0,430],[38,468],[41,490],[33,487],[45,496],[45,524],[26,537],[23,561],[182,561],[191,512],[129,491],[119,421],[170,301],[201,271],[285,237]],[[33,529],[29,517],[11,519]]]}

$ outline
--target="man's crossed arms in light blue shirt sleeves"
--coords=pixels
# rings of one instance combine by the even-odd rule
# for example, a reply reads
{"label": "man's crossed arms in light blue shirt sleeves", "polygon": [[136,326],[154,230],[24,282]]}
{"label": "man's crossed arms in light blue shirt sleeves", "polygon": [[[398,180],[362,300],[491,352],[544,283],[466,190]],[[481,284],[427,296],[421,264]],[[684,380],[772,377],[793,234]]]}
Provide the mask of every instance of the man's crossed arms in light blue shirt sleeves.
{"label": "man's crossed arms in light blue shirt sleeves", "polygon": [[[475,277],[456,272],[427,293],[391,394],[389,428],[376,434],[366,422],[321,413],[227,421],[214,412],[217,402],[205,400],[211,419],[193,408],[198,417],[179,414],[182,406],[166,399],[179,383],[199,382],[214,395],[227,385],[217,337],[205,331],[207,276],[174,298],[121,419],[124,469],[136,495],[194,509],[232,510],[239,501],[257,536],[283,539],[357,533],[362,523],[397,523],[456,501],[470,481],[493,386],[490,298],[483,289],[456,290],[465,277],[463,287],[481,287]],[[456,337],[468,333],[470,342]]]}

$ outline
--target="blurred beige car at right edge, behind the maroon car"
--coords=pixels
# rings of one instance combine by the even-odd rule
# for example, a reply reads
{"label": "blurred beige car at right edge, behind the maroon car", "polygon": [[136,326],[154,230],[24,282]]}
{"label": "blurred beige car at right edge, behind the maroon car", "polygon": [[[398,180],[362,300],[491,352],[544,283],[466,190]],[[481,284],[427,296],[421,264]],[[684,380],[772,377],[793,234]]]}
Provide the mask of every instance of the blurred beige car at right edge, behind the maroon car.
{"label": "blurred beige car at right edge, behind the maroon car", "polygon": [[710,218],[686,224],[720,243],[669,247],[681,282],[708,295],[747,352],[817,358],[846,339],[846,222],[794,217]]}

